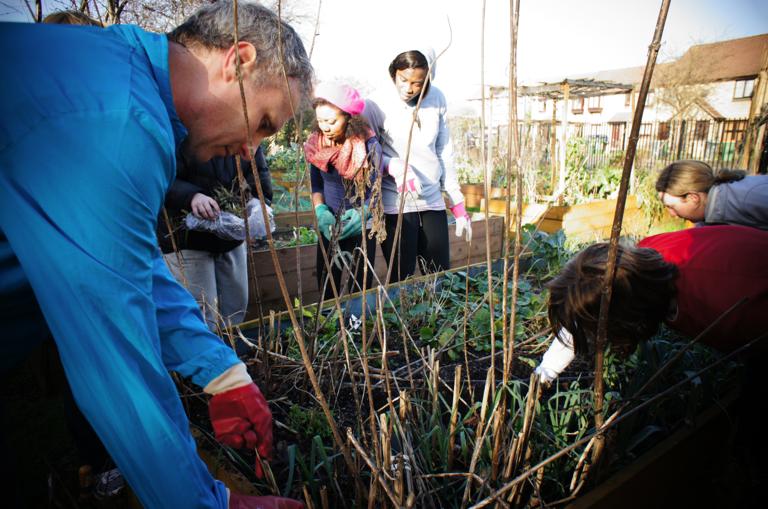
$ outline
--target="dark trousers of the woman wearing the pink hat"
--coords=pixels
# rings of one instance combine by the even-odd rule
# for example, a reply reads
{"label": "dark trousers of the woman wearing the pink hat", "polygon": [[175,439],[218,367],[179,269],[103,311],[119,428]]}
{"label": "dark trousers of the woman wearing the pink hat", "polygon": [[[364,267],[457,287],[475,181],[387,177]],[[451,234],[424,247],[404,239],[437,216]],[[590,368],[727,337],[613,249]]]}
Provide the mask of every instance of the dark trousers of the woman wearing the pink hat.
{"label": "dark trousers of the woman wearing the pink hat", "polygon": [[[369,239],[368,234],[370,233],[370,230],[366,231],[366,253],[368,253],[368,259],[371,263],[371,266],[373,266],[374,260],[376,259],[376,238]],[[336,263],[333,263],[333,254],[331,253],[331,243],[329,240],[326,239],[323,234],[318,235],[319,239],[323,242],[323,246],[326,248],[326,255],[328,256],[328,261],[331,264],[331,276],[333,276],[333,283],[336,284],[336,291],[339,292],[339,296],[343,293],[342,287],[341,287],[341,276],[344,268],[344,264],[342,263],[342,268],[339,269],[338,266],[336,266]],[[346,259],[346,263],[349,264],[350,274],[347,276],[345,281],[345,290],[346,293],[356,293],[362,291],[362,288],[370,289],[370,287],[373,285],[373,274],[371,266],[368,267],[368,278],[365,282],[363,282],[363,278],[365,276],[364,272],[364,263],[360,263],[362,261],[362,253],[359,251],[356,251],[355,249],[357,247],[362,246],[362,234],[351,236],[344,240],[339,240],[339,252],[347,252],[352,254],[352,263],[349,263],[349,259]],[[325,259],[323,259],[323,252],[320,251],[320,244],[317,244],[317,289],[322,292],[323,291],[323,284],[326,282],[326,262]],[[322,300],[329,300],[333,299],[333,288],[330,285],[330,282],[326,285],[326,291],[323,294]]]}

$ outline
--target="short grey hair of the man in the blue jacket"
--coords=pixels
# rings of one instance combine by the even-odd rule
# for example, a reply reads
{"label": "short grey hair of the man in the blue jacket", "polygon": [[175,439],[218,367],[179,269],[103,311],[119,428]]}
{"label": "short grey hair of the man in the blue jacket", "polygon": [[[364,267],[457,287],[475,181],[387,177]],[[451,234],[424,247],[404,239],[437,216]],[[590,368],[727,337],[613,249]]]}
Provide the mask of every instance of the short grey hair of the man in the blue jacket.
{"label": "short grey hair of the man in the blue jacket", "polygon": [[[207,50],[231,48],[235,41],[234,8],[229,0],[218,0],[201,7],[181,25],[170,31],[168,38],[187,48]],[[301,38],[293,27],[270,9],[254,2],[237,2],[237,35],[250,42],[257,51],[253,78],[258,88],[285,87],[280,65],[279,39],[283,40],[283,62],[286,74],[299,80],[301,107],[309,107],[313,94],[314,71]],[[277,27],[280,25],[280,38]],[[294,104],[294,107],[299,104]]]}

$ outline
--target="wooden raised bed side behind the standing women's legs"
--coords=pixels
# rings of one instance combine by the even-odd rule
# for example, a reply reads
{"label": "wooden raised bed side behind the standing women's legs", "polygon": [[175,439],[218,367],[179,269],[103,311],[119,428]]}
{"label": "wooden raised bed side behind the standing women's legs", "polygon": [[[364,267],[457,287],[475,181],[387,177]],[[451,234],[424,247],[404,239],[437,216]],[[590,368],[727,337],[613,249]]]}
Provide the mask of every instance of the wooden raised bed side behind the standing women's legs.
{"label": "wooden raised bed side behind the standing women's legs", "polygon": [[[311,212],[310,212],[311,213]],[[286,224],[290,224],[290,220],[295,218],[294,213],[286,213]],[[276,216],[276,222],[280,216],[280,220],[283,220],[283,214]],[[290,217],[290,220],[288,219]],[[304,216],[300,215],[300,218]],[[312,222],[311,216],[309,216],[310,223]],[[294,221],[295,223],[295,221]],[[504,218],[492,217],[489,221],[491,228],[491,256],[498,257],[502,254],[502,235],[504,232]],[[465,241],[465,237],[456,236],[455,224],[449,225],[449,240],[451,250],[451,266],[466,266],[467,262],[470,264],[485,261],[486,245],[485,245],[485,220],[472,221],[472,246]],[[296,247],[286,247],[277,250],[277,258],[280,261],[280,269],[283,271],[283,278],[285,279],[286,287],[290,292],[290,299],[299,296],[299,275],[301,277],[301,293],[302,300],[305,305],[317,302],[319,300],[319,290],[317,288],[317,245],[310,244],[307,246],[300,246],[300,273],[296,269]],[[257,277],[257,283],[259,287],[259,293],[262,303],[262,309],[264,313],[273,311],[285,311],[285,299],[283,299],[283,293],[280,289],[280,283],[277,279],[277,273],[275,272],[275,266],[272,261],[272,254],[270,251],[257,251],[253,253],[254,261],[256,265],[255,272],[251,269],[248,271],[249,277],[249,293],[248,296],[248,309],[247,320],[256,319],[258,316],[256,296],[253,294],[253,276]],[[386,262],[382,255],[381,246],[376,247],[376,274],[384,282],[386,277]],[[418,270],[418,269],[417,269]],[[418,272],[417,272],[418,273]]]}

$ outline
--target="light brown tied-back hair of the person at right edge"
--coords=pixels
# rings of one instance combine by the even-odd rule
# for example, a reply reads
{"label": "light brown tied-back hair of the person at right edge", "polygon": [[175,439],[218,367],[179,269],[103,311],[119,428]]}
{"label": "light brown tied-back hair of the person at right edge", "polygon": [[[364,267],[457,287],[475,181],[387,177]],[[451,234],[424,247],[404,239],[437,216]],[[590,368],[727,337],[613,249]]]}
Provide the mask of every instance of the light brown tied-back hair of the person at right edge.
{"label": "light brown tied-back hair of the person at right edge", "polygon": [[718,183],[730,183],[746,176],[744,170],[729,170],[712,167],[700,160],[680,159],[668,164],[656,179],[656,190],[669,193],[674,197],[684,197],[688,193],[707,193]]}

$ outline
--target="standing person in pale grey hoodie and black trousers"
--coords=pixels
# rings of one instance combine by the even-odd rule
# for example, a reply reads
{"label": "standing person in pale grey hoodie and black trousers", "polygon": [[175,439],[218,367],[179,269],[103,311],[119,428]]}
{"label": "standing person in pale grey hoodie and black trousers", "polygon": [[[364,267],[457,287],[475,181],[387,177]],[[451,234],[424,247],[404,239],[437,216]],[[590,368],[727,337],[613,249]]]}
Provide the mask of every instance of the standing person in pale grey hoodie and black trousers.
{"label": "standing person in pale grey hoodie and black trousers", "polygon": [[[456,235],[465,233],[467,240],[472,236],[453,163],[448,106],[445,95],[432,84],[435,65],[429,72],[429,65],[435,61],[435,51],[431,46],[421,51],[413,47],[409,49],[389,64],[394,87],[386,84],[370,94],[363,112],[382,144],[382,167],[388,173],[382,180],[386,220],[382,252],[386,262],[389,263],[393,250],[399,250],[395,255],[399,263],[396,261],[392,268],[390,283],[412,276],[417,258],[422,273],[450,269],[448,216],[443,191],[452,203]],[[422,90],[422,103],[413,123],[413,112]],[[405,201],[402,204],[402,229],[396,237],[401,200]]]}

